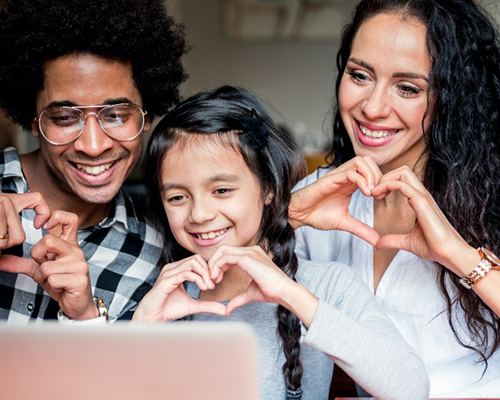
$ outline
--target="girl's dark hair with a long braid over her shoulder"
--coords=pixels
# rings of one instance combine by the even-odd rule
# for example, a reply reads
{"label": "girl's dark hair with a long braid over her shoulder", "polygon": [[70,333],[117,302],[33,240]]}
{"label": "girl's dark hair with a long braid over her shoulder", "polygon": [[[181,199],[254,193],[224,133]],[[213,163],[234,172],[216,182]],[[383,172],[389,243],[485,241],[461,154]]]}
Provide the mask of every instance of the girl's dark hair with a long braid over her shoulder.
{"label": "girl's dark hair with a long braid over her shoulder", "polygon": [[[164,240],[163,262],[189,255],[175,240],[163,208],[161,164],[176,144],[208,136],[232,146],[257,177],[264,205],[258,244],[273,262],[295,280],[298,261],[295,235],[288,223],[291,190],[305,175],[305,164],[292,138],[278,128],[255,96],[229,86],[195,95],[170,111],[155,128],[146,154],[146,184],[152,220]],[[270,196],[269,196],[270,195]],[[283,306],[277,310],[278,332],[286,362],[283,373],[289,390],[300,388],[300,321]]]}

